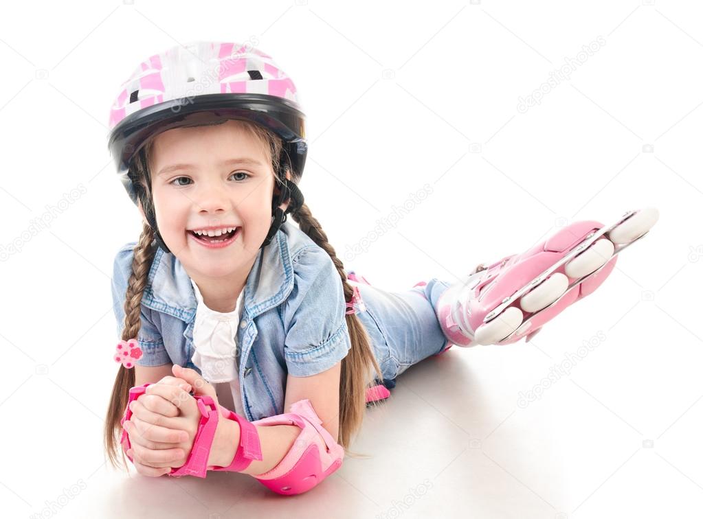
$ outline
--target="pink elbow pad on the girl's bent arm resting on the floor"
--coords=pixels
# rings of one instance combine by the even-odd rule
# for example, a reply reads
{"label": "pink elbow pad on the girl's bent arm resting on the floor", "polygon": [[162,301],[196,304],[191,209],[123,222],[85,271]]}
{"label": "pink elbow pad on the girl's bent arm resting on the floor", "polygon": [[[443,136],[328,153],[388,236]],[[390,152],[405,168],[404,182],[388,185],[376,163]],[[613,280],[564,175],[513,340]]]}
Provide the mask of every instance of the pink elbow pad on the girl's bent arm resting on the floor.
{"label": "pink elbow pad on the girl's bent arm resting on the floor", "polygon": [[283,495],[307,492],[340,468],[344,459],[344,447],[322,426],[310,400],[299,400],[290,410],[252,422],[256,426],[295,425],[302,429],[278,465],[254,475],[262,485]]}

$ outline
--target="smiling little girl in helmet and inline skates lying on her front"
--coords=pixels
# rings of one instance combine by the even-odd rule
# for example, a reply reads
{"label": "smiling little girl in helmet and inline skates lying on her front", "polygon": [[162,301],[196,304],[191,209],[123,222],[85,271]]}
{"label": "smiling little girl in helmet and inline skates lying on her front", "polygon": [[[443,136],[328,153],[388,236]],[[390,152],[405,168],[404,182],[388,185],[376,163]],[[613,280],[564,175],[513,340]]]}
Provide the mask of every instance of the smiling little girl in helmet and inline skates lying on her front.
{"label": "smiling little girl in helmet and inline skates lying on her front", "polygon": [[372,287],[297,188],[295,85],[234,43],[141,63],[112,106],[109,146],[144,221],[115,256],[110,461],[120,444],[144,475],[237,471],[280,494],[333,473],[366,405],[409,366],[452,345],[529,341],[658,218],[572,223],[452,284]]}

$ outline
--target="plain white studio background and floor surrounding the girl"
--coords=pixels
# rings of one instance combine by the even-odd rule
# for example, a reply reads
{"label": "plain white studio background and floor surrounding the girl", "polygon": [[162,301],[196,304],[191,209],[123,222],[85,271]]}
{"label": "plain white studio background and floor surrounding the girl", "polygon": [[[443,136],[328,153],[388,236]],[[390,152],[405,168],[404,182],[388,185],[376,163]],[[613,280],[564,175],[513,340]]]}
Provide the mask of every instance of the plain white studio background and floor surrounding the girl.
{"label": "plain white studio background and floor surrounding the girl", "polygon": [[[701,14],[659,0],[13,4],[0,20],[1,515],[699,516]],[[453,281],[572,221],[660,211],[531,343],[408,369],[352,445],[370,458],[295,498],[240,474],[129,478],[101,443],[112,260],[141,229],[108,155],[109,107],[149,55],[252,38],[299,89],[307,203],[345,267],[379,287]]]}

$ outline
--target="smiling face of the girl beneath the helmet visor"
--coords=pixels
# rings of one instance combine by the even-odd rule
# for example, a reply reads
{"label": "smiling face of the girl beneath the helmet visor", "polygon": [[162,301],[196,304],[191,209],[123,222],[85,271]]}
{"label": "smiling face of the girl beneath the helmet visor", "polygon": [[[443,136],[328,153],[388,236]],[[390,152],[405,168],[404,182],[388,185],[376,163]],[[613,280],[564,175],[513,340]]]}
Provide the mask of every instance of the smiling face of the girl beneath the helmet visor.
{"label": "smiling face of the girl beneath the helmet visor", "polygon": [[[268,143],[235,120],[155,137],[149,171],[156,221],[188,273],[249,272],[271,225],[275,178],[269,154]],[[191,232],[211,226],[240,229],[232,244],[212,249]]]}

